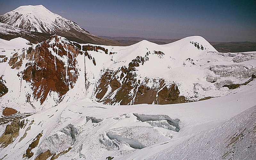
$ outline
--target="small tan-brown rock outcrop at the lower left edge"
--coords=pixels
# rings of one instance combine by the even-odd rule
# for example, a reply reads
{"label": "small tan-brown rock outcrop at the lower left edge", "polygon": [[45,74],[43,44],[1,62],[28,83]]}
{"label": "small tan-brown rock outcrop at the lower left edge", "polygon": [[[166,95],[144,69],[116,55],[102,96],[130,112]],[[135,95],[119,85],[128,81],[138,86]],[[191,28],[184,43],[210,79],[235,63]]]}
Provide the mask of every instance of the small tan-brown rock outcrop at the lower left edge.
{"label": "small tan-brown rock outcrop at the lower left edge", "polygon": [[0,137],[1,148],[11,144],[18,137],[19,131],[20,120],[14,120],[11,124],[7,124],[4,133]]}

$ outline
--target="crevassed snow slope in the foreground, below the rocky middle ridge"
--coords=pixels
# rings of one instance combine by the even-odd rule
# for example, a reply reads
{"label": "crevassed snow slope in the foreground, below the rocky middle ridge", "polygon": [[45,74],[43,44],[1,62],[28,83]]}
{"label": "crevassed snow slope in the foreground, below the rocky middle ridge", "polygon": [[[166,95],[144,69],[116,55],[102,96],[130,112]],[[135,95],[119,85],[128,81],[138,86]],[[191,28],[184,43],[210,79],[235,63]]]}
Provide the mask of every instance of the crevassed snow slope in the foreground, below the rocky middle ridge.
{"label": "crevassed snow slope in the foreground, below the rocky middle ridge", "polygon": [[243,92],[173,105],[70,101],[20,119],[8,131],[2,125],[1,142],[8,136],[14,139],[2,143],[0,157],[253,159],[255,86],[252,81]]}

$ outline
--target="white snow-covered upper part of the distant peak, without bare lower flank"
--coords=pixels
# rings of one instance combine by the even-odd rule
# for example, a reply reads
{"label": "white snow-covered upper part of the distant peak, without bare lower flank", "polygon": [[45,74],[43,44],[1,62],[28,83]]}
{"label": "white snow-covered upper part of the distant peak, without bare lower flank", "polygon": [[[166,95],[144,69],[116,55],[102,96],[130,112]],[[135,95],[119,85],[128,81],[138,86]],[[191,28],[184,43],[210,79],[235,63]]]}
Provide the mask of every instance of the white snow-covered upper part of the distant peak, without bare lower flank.
{"label": "white snow-covered upper part of the distant peak, without bare lower flank", "polygon": [[63,34],[70,33],[70,30],[74,29],[77,32],[89,34],[84,28],[52,13],[43,5],[20,6],[0,16],[0,20],[2,23],[34,32]]}

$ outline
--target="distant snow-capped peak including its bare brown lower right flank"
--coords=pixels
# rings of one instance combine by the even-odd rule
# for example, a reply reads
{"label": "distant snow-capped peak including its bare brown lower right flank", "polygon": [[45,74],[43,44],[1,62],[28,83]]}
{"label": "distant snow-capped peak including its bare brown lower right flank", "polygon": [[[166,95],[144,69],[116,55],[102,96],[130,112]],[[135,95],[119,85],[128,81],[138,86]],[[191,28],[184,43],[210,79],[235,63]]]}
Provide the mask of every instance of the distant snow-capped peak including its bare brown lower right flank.
{"label": "distant snow-capped peak including its bare brown lower right flank", "polygon": [[90,34],[75,22],[52,13],[43,5],[20,6],[11,12],[1,15],[0,22],[31,32],[75,37],[86,43],[122,45],[119,42]]}

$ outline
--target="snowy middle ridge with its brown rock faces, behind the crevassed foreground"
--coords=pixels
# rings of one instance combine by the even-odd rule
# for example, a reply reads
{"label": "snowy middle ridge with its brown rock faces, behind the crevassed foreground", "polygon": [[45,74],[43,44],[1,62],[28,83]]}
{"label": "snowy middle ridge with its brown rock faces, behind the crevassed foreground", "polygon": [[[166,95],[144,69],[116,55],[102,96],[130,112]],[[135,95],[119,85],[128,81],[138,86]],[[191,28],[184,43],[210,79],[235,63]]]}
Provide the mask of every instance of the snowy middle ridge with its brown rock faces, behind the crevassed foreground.
{"label": "snowy middle ridge with its brown rock faces, behind the crevassed foreground", "polygon": [[80,98],[109,105],[206,100],[243,91],[256,72],[256,52],[219,53],[200,36],[124,47],[57,35],[39,44],[19,41],[20,49],[1,42],[9,46],[2,49],[1,76],[12,91],[1,103],[28,104],[30,111]]}

